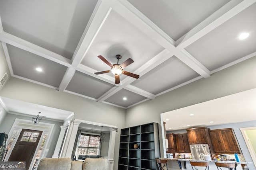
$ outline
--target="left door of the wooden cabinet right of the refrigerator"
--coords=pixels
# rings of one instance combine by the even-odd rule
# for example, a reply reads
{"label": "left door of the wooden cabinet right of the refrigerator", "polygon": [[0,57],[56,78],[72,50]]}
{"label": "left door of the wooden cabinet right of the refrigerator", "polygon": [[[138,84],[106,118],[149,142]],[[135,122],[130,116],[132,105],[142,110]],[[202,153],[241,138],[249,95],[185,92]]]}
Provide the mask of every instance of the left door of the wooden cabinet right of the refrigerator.
{"label": "left door of the wooden cabinet right of the refrigerator", "polygon": [[225,153],[225,147],[222,143],[222,135],[218,131],[212,131],[209,133],[212,141],[213,149],[216,153]]}

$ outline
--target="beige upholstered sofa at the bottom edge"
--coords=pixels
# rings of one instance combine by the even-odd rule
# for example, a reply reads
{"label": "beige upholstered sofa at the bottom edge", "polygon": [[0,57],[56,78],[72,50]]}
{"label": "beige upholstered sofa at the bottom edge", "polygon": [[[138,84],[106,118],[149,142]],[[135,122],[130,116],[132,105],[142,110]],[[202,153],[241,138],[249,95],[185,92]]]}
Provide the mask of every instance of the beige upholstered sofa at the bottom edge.
{"label": "beige upholstered sofa at the bottom edge", "polygon": [[108,160],[86,158],[83,162],[71,158],[42,158],[37,170],[108,170]]}

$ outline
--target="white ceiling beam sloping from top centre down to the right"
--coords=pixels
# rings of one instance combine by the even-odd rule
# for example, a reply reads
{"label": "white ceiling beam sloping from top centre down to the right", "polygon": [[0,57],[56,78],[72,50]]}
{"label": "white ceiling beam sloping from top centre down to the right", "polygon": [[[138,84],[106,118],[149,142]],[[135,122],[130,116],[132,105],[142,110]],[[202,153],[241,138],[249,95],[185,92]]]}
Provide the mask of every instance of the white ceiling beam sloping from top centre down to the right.
{"label": "white ceiling beam sloping from top centre down to the right", "polygon": [[[203,66],[199,61],[197,61],[192,56],[183,54],[180,50],[175,47],[175,41],[169,37],[162,29],[160,29],[156,24],[149,20],[144,14],[142,14],[138,9],[136,9],[127,0],[116,0],[112,6],[113,10],[118,12],[130,23],[134,24],[143,33],[151,37],[154,41],[162,45],[165,49],[168,49],[171,53],[175,53],[175,56],[196,71],[198,74],[207,78],[210,76],[210,71]],[[188,57],[188,59],[186,59]]]}

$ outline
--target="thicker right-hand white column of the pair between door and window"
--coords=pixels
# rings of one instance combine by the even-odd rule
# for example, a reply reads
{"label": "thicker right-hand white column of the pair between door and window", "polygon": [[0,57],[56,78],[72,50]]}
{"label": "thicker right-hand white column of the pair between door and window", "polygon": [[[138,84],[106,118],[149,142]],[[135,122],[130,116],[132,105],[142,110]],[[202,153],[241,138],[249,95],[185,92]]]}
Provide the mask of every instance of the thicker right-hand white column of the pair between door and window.
{"label": "thicker right-hand white column of the pair between door and window", "polygon": [[60,158],[71,158],[73,147],[76,141],[76,133],[81,121],[71,120],[68,121],[68,131],[63,143]]}

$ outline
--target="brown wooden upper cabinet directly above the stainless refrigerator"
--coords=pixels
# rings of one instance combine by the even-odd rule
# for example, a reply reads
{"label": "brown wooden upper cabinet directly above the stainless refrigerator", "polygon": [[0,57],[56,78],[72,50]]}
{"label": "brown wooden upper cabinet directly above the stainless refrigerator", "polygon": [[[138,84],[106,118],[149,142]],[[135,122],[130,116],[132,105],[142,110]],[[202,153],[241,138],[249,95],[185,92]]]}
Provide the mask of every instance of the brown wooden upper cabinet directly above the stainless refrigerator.
{"label": "brown wooden upper cabinet directly above the stainless refrigerator", "polygon": [[210,136],[209,136],[209,128],[207,127],[198,127],[186,129],[188,133],[188,141],[189,144],[209,144]]}

